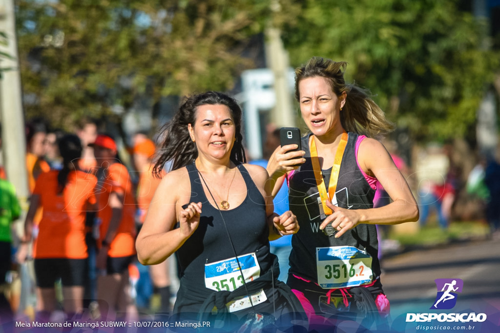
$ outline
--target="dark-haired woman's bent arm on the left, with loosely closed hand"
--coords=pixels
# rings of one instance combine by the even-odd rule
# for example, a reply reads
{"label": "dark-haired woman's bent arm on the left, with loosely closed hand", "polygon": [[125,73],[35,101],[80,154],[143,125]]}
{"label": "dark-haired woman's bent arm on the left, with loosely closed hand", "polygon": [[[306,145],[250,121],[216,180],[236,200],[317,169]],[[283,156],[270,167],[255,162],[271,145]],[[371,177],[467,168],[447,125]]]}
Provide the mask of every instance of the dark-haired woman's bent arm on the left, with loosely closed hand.
{"label": "dark-haired woman's bent arm on the left, with loosely closed hand", "polygon": [[[162,178],[135,241],[141,264],[161,263],[196,230],[201,203],[191,202],[183,209],[182,205],[187,204],[189,199],[189,176],[185,168],[169,172]],[[174,229],[177,220],[180,228]]]}

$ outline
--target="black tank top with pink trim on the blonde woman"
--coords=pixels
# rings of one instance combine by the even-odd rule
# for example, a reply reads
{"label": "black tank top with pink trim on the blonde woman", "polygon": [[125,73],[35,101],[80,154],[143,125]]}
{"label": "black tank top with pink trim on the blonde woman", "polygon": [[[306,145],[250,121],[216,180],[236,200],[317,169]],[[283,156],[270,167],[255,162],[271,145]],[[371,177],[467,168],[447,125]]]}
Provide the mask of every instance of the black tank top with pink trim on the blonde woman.
{"label": "black tank top with pink trim on the blonde woman", "polygon": [[[373,279],[380,275],[378,242],[374,225],[359,224],[339,238],[328,237],[319,230],[320,218],[317,198],[319,197],[312,169],[309,136],[302,138],[305,163],[289,179],[290,210],[296,215],[300,229],[293,235],[289,273],[317,283],[316,248],[330,246],[354,246],[366,251],[372,258]],[[336,199],[337,206],[347,209],[373,207],[373,190],[359,170],[355,156],[358,135],[348,133],[347,145],[340,163]],[[333,152],[334,153],[334,152]],[[325,186],[328,186],[331,168],[322,170]]]}

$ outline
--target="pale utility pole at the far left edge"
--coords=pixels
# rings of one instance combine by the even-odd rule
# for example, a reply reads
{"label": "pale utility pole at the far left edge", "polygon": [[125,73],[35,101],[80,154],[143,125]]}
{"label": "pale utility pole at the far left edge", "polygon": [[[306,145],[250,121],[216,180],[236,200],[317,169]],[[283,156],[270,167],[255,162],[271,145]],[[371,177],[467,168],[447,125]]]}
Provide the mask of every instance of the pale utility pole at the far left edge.
{"label": "pale utility pole at the far left edge", "polygon": [[26,172],[26,143],[21,98],[21,79],[15,33],[13,0],[1,0],[0,31],[7,36],[1,51],[10,57],[0,59],[0,120],[2,124],[3,162],[8,180],[14,185],[22,207],[26,208],[28,184]]}

